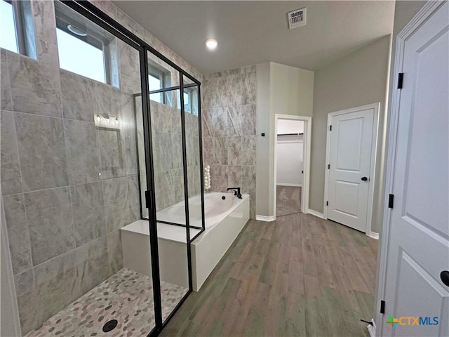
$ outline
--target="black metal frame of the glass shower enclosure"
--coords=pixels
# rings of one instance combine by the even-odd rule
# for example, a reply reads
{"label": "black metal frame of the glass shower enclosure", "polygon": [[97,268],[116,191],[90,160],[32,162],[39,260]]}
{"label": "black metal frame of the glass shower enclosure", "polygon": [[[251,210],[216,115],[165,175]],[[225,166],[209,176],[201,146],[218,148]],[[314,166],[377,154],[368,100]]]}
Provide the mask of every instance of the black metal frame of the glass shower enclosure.
{"label": "black metal frame of the glass shower enclosure", "polygon": [[[158,336],[162,329],[168,324],[175,312],[180,308],[182,303],[186,300],[190,293],[192,293],[192,255],[190,244],[198,235],[194,238],[190,237],[190,223],[189,223],[189,190],[188,190],[188,177],[187,177],[187,146],[186,146],[186,134],[185,134],[185,107],[184,107],[184,95],[180,95],[181,105],[181,127],[182,127],[182,161],[183,161],[183,175],[184,175],[184,195],[185,195],[185,217],[186,217],[186,246],[187,246],[187,265],[189,271],[189,290],[185,296],[180,300],[175,309],[170,313],[165,322],[162,319],[162,303],[161,303],[161,275],[159,268],[159,247],[157,239],[157,227],[156,227],[156,199],[154,188],[154,162],[153,162],[153,144],[152,144],[152,120],[149,104],[149,79],[148,79],[148,57],[147,53],[152,53],[156,57],[166,62],[170,67],[173,67],[180,76],[180,93],[184,92],[184,88],[192,86],[192,84],[184,84],[184,77],[187,77],[198,86],[198,127],[199,127],[199,167],[200,167],[200,183],[201,183],[201,220],[202,228],[201,232],[205,230],[204,219],[204,179],[203,179],[203,147],[201,136],[201,82],[193,77],[191,74],[183,70],[179,65],[166,58],[159,51],[156,51],[152,46],[149,46],[145,41],[138,36],[130,32],[129,29],[123,27],[119,22],[112,19],[106,13],[102,12],[99,8],[94,6],[88,1],[82,0],[62,0],[63,4],[69,6],[74,11],[80,13],[84,17],[88,18],[96,25],[106,29],[115,37],[121,39],[123,42],[135,48],[140,55],[140,83],[142,95],[142,112],[143,112],[143,128],[144,128],[144,143],[145,143],[145,164],[147,171],[147,191],[145,191],[145,205],[149,209],[149,241],[151,247],[151,263],[152,263],[152,282],[153,282],[153,298],[154,298],[154,319],[155,326],[152,331],[148,331],[148,337]],[[173,88],[172,88],[173,89]],[[152,91],[153,93],[153,91]],[[136,125],[137,134],[137,125]],[[137,139],[136,139],[137,147]],[[137,163],[138,164],[138,163]],[[140,170],[139,170],[140,172]],[[140,175],[139,187],[140,187]],[[141,195],[141,194],[140,194]],[[140,200],[142,205],[144,200]],[[142,209],[142,208],[141,208]],[[201,234],[201,232],[199,234]]]}

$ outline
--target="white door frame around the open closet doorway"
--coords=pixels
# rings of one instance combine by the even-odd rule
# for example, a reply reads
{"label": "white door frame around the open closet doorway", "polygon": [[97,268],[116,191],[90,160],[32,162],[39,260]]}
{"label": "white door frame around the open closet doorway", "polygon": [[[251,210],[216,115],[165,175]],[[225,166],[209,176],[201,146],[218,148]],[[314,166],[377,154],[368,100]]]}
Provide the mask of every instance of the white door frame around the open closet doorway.
{"label": "white door frame around the open closet doorway", "polygon": [[275,114],[274,115],[274,207],[273,207],[273,220],[276,220],[276,173],[277,173],[277,157],[276,157],[276,143],[277,143],[277,130],[278,119],[291,119],[294,121],[304,121],[304,142],[303,142],[303,159],[304,159],[304,176],[302,177],[302,189],[301,189],[301,212],[309,213],[309,189],[310,189],[310,150],[311,150],[311,117],[309,116],[293,116],[290,114]]}

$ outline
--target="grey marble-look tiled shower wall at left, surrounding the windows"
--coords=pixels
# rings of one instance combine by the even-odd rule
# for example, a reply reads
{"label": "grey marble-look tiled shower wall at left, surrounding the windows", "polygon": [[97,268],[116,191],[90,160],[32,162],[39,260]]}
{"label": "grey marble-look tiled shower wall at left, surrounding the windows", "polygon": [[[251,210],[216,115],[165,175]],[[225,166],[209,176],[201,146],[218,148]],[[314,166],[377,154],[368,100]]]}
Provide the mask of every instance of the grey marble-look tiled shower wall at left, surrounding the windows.
{"label": "grey marble-look tiled shower wall at left, surrounding the windows", "polygon": [[[114,5],[95,4],[201,78]],[[120,88],[60,70],[53,1],[32,8],[37,60],[0,52],[1,192],[23,334],[119,270],[119,228],[140,218],[138,52],[119,41]],[[95,124],[96,112],[119,128]]]}

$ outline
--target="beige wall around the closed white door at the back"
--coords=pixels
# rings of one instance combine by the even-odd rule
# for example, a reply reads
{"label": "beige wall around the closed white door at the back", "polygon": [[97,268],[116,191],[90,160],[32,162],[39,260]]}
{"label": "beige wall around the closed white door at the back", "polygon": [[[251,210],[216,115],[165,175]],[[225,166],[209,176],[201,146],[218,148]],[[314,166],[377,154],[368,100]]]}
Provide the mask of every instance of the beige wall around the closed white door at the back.
{"label": "beige wall around the closed white door at the back", "polygon": [[383,176],[387,79],[391,37],[385,36],[342,60],[315,72],[314,117],[311,133],[309,208],[323,212],[328,113],[380,102],[379,136],[373,202],[373,232],[380,232],[383,214]]}

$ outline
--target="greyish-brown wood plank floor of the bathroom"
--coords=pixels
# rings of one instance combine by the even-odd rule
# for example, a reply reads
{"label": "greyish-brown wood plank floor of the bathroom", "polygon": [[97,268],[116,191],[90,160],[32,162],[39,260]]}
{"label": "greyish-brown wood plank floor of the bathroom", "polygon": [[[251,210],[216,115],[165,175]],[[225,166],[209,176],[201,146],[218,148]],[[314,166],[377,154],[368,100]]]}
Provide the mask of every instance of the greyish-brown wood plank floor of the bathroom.
{"label": "greyish-brown wood plank floor of the bathroom", "polygon": [[368,336],[377,241],[309,214],[250,220],[161,336]]}

